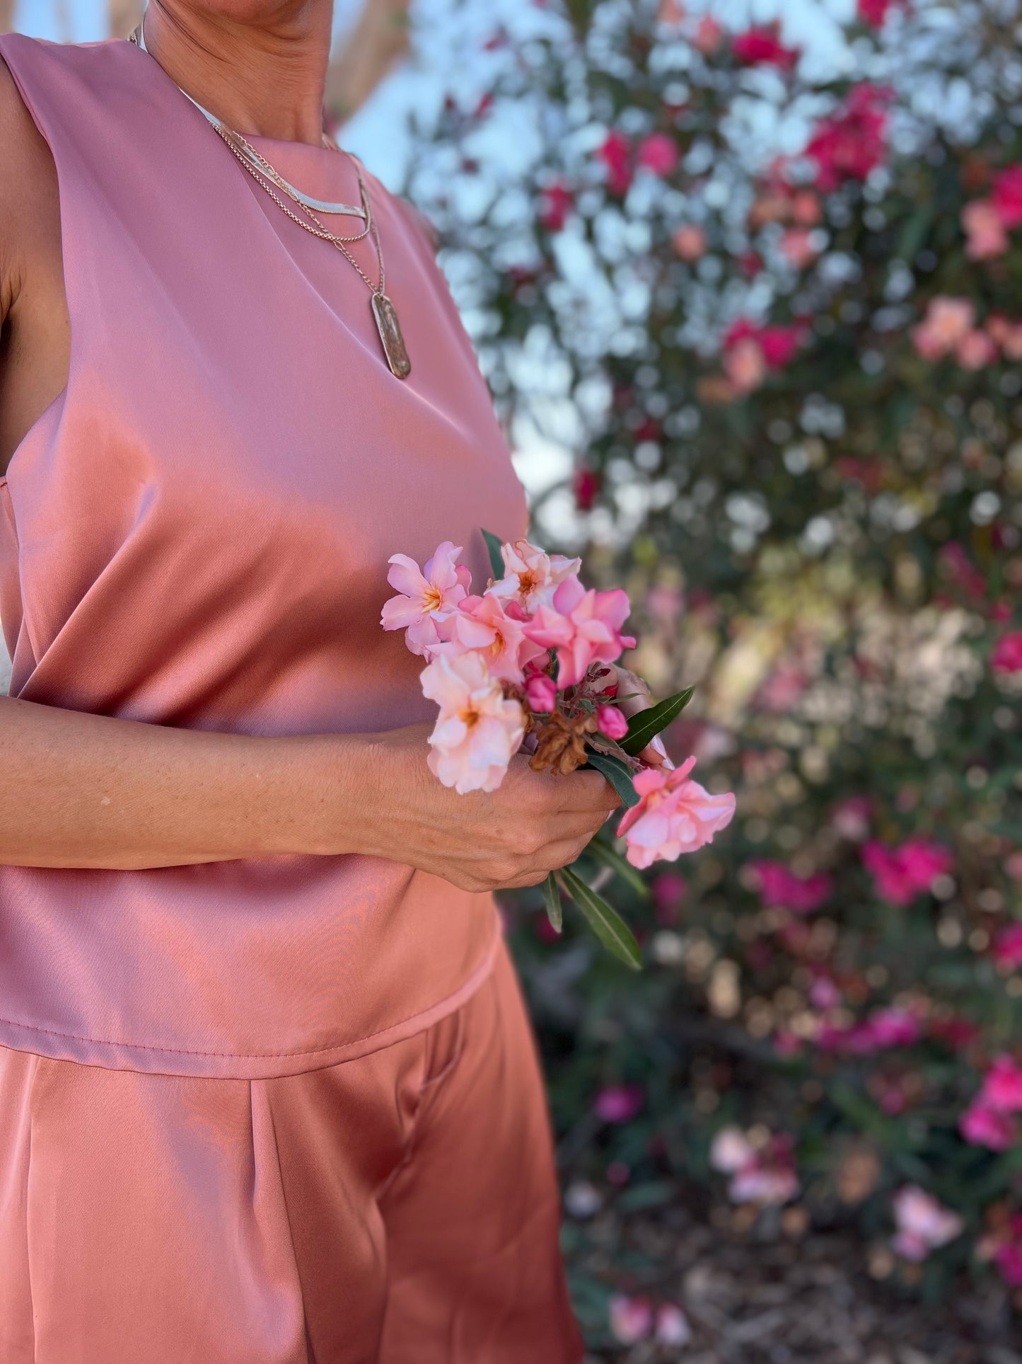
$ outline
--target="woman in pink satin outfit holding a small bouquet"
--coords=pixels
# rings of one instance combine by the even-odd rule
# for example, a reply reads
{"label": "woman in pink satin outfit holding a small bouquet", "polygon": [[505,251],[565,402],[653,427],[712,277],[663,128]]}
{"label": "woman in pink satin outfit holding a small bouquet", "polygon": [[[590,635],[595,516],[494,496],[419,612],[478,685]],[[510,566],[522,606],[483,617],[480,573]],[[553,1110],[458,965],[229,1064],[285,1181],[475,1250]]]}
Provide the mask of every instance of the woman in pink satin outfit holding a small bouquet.
{"label": "woman in pink satin outfit holding a small bouquet", "polygon": [[386,561],[526,512],[330,11],[0,41],[4,1364],[580,1356],[489,892],[616,797],[427,771]]}

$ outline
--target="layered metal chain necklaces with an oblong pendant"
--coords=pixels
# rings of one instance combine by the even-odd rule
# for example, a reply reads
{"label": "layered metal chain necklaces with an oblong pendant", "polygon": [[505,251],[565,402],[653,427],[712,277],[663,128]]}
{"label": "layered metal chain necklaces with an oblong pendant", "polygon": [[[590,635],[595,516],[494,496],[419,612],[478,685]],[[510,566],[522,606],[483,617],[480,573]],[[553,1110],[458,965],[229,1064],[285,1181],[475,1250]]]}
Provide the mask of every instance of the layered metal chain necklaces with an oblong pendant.
{"label": "layered metal chain necklaces with an oblong pendant", "polygon": [[[146,48],[143,25],[139,25],[132,33],[131,42],[139,46],[143,52],[149,50]],[[180,86],[177,89],[181,90]],[[349,158],[358,179],[358,196],[361,199],[360,206],[352,203],[328,203],[323,199],[313,199],[311,195],[303,194],[301,190],[285,180],[283,176],[270,165],[266,157],[262,155],[262,153],[259,153],[251,142],[248,142],[234,128],[229,128],[215,115],[210,113],[208,109],[203,109],[199,101],[192,100],[187,90],[181,90],[181,94],[206,117],[208,124],[215,132],[219,134],[221,139],[230,149],[238,165],[241,165],[252,176],[256,184],[259,184],[270,195],[277,207],[285,213],[292,222],[297,222],[300,228],[309,232],[313,237],[320,237],[323,241],[328,241],[332,247],[337,247],[349,265],[354,267],[369,289],[372,315],[376,322],[376,330],[380,334],[380,344],[383,346],[383,353],[387,359],[390,371],[398,379],[406,379],[409,374],[412,374],[412,361],[409,360],[407,348],[405,346],[405,338],[401,331],[397,308],[384,292],[386,270],[383,265],[383,248],[380,246],[380,235],[376,231],[376,221],[372,216],[369,190],[365,184],[365,177],[362,176],[362,169],[358,165],[358,161],[354,157]],[[322,136],[324,147],[328,147],[331,151],[337,151],[339,155],[347,154],[342,153],[337,143],[332,142],[326,132]],[[304,217],[298,217],[297,213],[289,209],[277,191],[290,199]],[[318,217],[320,213],[346,214],[349,217],[362,218],[365,226],[361,232],[357,232],[353,236],[342,237],[328,231],[328,228]],[[369,276],[365,270],[362,270],[356,258],[347,250],[349,243],[361,241],[367,236],[372,236],[373,246],[376,247],[376,262],[380,276],[379,284],[372,282]]]}

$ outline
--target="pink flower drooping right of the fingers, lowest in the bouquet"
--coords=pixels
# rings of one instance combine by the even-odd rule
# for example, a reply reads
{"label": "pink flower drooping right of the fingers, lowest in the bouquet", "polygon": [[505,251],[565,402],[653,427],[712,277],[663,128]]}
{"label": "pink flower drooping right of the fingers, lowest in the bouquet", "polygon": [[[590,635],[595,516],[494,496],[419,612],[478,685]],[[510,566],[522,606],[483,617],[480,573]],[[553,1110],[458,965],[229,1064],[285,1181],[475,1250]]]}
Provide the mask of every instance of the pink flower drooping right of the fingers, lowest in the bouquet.
{"label": "pink flower drooping right of the fingers, lowest in the bouquet", "polygon": [[695,853],[710,843],[714,833],[730,824],[734,797],[710,795],[688,776],[694,767],[691,757],[673,772],[646,768],[635,775],[632,784],[639,803],[624,812],[617,827],[632,866],[673,862],[683,853]]}

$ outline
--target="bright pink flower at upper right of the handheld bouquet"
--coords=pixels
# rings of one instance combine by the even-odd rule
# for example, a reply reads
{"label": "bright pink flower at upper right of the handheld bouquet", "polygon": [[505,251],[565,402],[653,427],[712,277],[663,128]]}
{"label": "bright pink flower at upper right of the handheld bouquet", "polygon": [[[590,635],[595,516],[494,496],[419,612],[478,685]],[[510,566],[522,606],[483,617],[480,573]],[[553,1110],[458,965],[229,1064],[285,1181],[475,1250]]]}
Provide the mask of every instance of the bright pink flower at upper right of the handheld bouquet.
{"label": "bright pink flower at upper right of the handheld bouquet", "polygon": [[621,634],[628,617],[628,595],[586,591],[576,577],[566,578],[549,606],[540,606],[526,625],[526,634],[545,649],[557,652],[557,686],[578,685],[590,663],[613,663],[635,640]]}

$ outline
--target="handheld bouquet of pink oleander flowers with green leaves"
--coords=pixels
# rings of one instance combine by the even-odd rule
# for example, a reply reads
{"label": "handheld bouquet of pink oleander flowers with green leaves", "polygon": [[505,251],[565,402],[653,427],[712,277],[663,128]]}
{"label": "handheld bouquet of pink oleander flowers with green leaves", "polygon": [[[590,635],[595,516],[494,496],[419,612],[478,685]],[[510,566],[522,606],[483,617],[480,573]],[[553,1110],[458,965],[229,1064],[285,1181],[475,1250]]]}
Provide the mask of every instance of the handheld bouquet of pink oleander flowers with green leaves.
{"label": "handheld bouquet of pink oleander flowers with green leaves", "polygon": [[[597,835],[586,848],[610,873],[646,893],[635,872],[673,862],[730,822],[734,797],[711,795],[680,768],[650,767],[640,754],[680,715],[692,687],[627,717],[612,664],[635,647],[621,634],[628,596],[586,589],[580,559],[545,554],[527,540],[501,544],[482,531],[492,578],[473,593],[459,546],[444,540],[420,569],[405,554],[390,558],[387,581],[398,596],[383,607],[384,630],[403,630],[427,660],[422,693],[440,713],[429,737],[429,768],[455,791],[495,791],[519,749],[529,765],[563,776],[582,764],[601,772],[621,798],[619,836],[625,855]],[[576,863],[578,865],[578,863]],[[551,923],[561,929],[564,891],[600,941],[640,967],[638,944],[610,904],[575,866],[546,877]]]}

